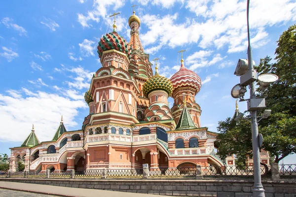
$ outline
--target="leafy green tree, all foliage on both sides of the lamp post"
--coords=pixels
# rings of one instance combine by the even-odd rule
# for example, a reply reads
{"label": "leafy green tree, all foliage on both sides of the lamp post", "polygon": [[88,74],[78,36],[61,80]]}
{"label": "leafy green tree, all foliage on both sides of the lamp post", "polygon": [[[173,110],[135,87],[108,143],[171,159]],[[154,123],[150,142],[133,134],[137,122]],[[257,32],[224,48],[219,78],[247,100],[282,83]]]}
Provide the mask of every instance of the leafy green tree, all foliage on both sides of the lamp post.
{"label": "leafy green tree, all foliage on both sides of the lamp post", "polygon": [[[275,157],[275,163],[296,153],[296,25],[282,33],[277,43],[275,63],[266,56],[255,67],[259,74],[279,76],[279,80],[266,90],[257,90],[258,96],[267,96],[266,108],[272,110],[269,118],[259,122],[259,132],[263,135],[262,149]],[[252,156],[252,133],[247,121],[235,122],[227,118],[219,122],[218,131],[221,134],[218,134],[216,144],[222,159],[237,154],[241,165],[247,155]]]}

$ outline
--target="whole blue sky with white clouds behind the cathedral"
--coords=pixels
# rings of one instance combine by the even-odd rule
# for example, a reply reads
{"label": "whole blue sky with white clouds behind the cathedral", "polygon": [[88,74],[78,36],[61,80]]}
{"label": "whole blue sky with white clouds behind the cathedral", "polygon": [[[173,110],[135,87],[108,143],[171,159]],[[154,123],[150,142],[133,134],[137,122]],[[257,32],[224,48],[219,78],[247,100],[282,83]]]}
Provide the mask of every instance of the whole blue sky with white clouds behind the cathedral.
{"label": "whole blue sky with white clouds behind the cathedral", "polygon": [[[246,0],[61,0],[4,1],[0,8],[0,152],[19,146],[35,125],[40,141],[51,140],[61,119],[79,130],[88,114],[83,95],[101,67],[96,50],[112,30],[129,41],[131,6],[141,19],[140,39],[150,62],[172,76],[185,66],[202,79],[196,102],[201,126],[217,131],[232,116],[231,88],[238,59],[247,59]],[[296,21],[294,0],[251,0],[253,59],[274,57],[279,35]],[[154,69],[154,66],[153,66]],[[170,100],[171,103],[173,100]],[[239,103],[241,111],[246,103]],[[296,157],[294,158],[294,163]],[[286,159],[285,159],[286,160]],[[286,163],[286,161],[285,161]],[[287,159],[287,163],[293,163]]]}

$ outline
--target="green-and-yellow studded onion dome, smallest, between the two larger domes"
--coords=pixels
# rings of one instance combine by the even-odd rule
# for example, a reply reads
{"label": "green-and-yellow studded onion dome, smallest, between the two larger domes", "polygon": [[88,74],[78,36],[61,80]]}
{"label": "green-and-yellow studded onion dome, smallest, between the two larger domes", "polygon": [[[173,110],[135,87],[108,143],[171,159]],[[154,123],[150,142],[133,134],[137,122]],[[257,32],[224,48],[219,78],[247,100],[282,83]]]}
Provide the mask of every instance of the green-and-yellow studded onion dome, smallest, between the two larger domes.
{"label": "green-and-yellow studded onion dome, smallest, between the two larger domes", "polygon": [[169,97],[173,93],[173,85],[171,81],[158,74],[157,72],[157,67],[155,67],[155,75],[151,78],[149,78],[144,86],[143,86],[143,94],[145,97],[148,97],[148,94],[152,92],[153,90],[164,90],[165,92],[168,93]]}

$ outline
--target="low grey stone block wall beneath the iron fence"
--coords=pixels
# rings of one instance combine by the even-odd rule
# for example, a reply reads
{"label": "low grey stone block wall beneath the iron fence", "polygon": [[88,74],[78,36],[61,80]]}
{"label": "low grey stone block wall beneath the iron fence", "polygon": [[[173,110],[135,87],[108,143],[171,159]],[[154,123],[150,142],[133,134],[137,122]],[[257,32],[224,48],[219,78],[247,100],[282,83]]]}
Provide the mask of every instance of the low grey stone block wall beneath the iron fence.
{"label": "low grey stone block wall beneath the iron fence", "polygon": [[[164,179],[40,179],[0,178],[0,181],[62,187],[193,197],[252,197],[251,180],[164,180]],[[265,197],[296,197],[296,180],[262,181]]]}

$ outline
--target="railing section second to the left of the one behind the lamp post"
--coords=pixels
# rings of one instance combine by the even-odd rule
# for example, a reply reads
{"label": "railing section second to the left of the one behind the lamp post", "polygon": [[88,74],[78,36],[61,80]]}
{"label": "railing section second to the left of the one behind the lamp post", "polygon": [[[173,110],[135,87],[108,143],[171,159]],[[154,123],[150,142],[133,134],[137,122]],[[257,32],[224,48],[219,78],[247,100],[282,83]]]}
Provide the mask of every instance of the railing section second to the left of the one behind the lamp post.
{"label": "railing section second to the left of the one behind the lamp post", "polygon": [[137,178],[143,177],[143,168],[136,169],[106,169],[107,178]]}

